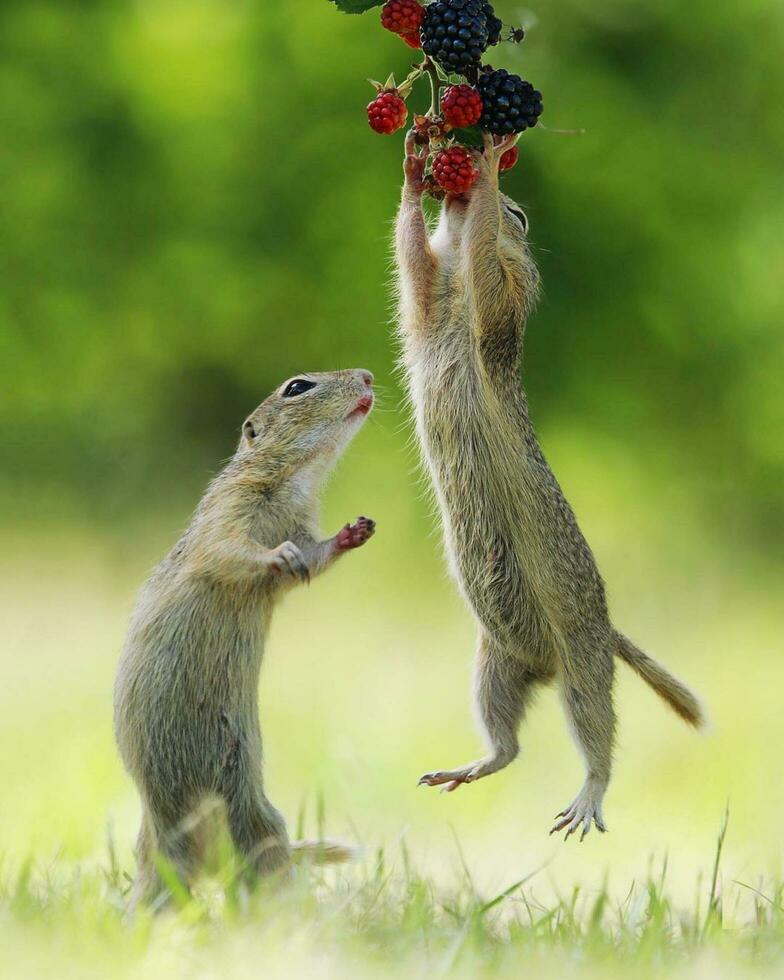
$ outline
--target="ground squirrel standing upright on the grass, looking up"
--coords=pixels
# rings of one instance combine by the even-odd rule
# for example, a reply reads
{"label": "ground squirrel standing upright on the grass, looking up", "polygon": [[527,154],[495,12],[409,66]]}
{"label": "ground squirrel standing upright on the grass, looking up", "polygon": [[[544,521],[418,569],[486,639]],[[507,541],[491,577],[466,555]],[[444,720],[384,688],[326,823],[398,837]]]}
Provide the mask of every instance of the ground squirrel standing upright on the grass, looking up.
{"label": "ground squirrel standing upright on the grass, looking up", "polygon": [[264,793],[258,680],[272,612],[375,530],[360,517],[325,541],[318,490],[373,406],[369,371],[305,374],[246,420],[228,466],[152,573],[133,614],[114,692],[115,733],[142,798],[131,907],[165,895],[156,855],[188,885],[202,863],[205,801],[226,809],[249,868],[292,849],[344,860],[339,845],[290,844]]}

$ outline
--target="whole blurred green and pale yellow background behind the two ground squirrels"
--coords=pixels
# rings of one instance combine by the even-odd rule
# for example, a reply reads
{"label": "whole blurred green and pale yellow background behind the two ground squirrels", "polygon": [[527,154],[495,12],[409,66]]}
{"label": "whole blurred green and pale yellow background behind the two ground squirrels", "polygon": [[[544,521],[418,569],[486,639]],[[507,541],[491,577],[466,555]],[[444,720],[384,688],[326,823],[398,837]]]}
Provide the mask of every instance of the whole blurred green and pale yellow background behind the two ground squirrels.
{"label": "whole blurred green and pale yellow background behind the two ground squirrels", "polygon": [[[620,669],[611,834],[547,837],[581,765],[554,692],[509,770],[480,751],[473,628],[447,579],[396,373],[390,230],[402,137],[366,77],[409,52],[327,0],[0,6],[0,852],[124,866],[137,800],[111,685],[134,595],[300,370],[366,366],[378,410],[324,501],[378,534],[274,624],[268,786],[433,875],[623,893],[669,855],[687,898],[727,801],[728,873],[780,870],[784,785],[784,8],[778,0],[498,0],[495,62],[544,92],[506,179],[544,295],[524,378],[614,618],[688,680],[687,731]],[[426,88],[426,86],[425,86]],[[427,104],[423,89],[410,100]],[[547,128],[545,128],[547,127]],[[583,130],[567,135],[555,130]]]}

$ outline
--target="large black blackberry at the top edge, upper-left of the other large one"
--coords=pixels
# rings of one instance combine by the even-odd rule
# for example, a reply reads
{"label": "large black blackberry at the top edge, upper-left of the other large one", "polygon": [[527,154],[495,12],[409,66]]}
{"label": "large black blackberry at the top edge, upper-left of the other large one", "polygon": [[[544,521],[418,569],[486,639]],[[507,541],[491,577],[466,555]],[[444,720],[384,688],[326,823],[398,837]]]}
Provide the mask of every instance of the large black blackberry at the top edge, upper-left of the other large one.
{"label": "large black blackberry at the top edge, upper-left of the other large one", "polygon": [[487,48],[483,0],[436,0],[425,7],[422,50],[446,72],[464,74]]}

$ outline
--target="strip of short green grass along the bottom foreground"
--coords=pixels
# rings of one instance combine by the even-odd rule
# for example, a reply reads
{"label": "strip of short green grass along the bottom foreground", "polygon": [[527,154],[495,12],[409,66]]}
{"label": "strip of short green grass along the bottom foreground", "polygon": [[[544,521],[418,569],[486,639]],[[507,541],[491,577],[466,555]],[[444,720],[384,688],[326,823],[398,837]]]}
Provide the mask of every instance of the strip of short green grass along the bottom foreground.
{"label": "strip of short green grass along the bottom foreground", "polygon": [[[784,885],[724,882],[724,831],[693,901],[668,894],[667,864],[629,882],[549,903],[545,869],[496,894],[421,876],[405,847],[340,872],[300,867],[285,887],[249,891],[229,864],[168,910],[123,913],[129,879],[113,848],[89,866],[26,864],[0,878],[0,947],[8,976],[539,977],[780,975]],[[165,974],[164,972],[165,971]]]}

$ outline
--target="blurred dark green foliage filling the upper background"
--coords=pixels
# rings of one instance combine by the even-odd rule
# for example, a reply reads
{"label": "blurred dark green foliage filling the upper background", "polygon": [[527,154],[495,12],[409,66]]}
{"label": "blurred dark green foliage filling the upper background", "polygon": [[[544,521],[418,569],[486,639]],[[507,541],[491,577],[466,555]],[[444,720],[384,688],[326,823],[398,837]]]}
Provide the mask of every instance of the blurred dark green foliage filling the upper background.
{"label": "blurred dark green foliage filling the upper background", "polygon": [[[542,89],[547,127],[585,130],[526,134],[507,178],[544,281],[525,366],[540,428],[617,437],[770,543],[784,8],[497,8],[532,28],[497,63]],[[2,4],[5,504],[111,515],[175,479],[190,493],[303,368],[367,365],[398,404],[402,137],[372,134],[364,105],[366,77],[409,58],[376,11],[326,0]]]}

